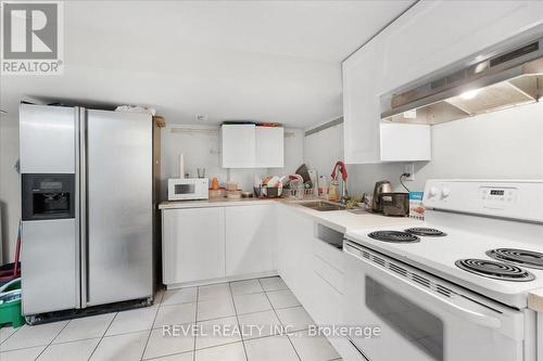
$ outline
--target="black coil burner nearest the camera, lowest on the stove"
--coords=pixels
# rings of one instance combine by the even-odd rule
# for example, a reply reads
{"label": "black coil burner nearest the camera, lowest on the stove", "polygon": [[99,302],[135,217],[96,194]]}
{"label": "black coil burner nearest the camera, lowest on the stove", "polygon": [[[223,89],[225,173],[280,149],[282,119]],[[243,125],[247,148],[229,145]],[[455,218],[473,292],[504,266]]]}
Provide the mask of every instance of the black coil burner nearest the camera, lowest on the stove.
{"label": "black coil burner nearest the camera, lowest on the stove", "polygon": [[494,280],[517,282],[535,280],[535,276],[532,273],[521,269],[520,267],[487,259],[459,259],[455,262],[455,265],[465,271]]}

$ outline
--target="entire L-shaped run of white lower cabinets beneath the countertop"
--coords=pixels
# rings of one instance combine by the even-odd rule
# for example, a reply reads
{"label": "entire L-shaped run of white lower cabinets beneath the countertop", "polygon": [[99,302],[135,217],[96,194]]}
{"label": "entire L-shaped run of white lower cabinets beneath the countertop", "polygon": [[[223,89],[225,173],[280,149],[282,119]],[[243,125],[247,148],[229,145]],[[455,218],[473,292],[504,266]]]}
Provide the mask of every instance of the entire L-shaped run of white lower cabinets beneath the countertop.
{"label": "entire L-shaped run of white lower cabinets beneath the countertop", "polygon": [[[342,233],[283,204],[163,209],[167,287],[278,272],[319,325],[343,320]],[[345,360],[362,360],[345,337],[330,337]]]}

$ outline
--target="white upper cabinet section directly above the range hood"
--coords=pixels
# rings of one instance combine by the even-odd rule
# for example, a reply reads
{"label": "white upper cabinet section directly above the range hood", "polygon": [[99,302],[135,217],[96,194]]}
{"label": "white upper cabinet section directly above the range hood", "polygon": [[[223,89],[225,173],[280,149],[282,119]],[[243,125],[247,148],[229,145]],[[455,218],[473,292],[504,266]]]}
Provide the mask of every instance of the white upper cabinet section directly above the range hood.
{"label": "white upper cabinet section directly above the range hood", "polygon": [[543,24],[543,1],[420,1],[379,35],[384,93]]}

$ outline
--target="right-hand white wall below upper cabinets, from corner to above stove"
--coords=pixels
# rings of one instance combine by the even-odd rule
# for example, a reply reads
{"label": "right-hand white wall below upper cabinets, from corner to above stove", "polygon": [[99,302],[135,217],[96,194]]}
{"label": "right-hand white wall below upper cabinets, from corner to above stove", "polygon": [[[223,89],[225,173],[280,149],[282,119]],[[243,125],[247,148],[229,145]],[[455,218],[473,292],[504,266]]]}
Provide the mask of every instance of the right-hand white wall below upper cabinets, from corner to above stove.
{"label": "right-hand white wall below upper cabinets, from corner to above stove", "polygon": [[[306,137],[306,164],[331,172],[342,158],[342,132],[339,125]],[[388,179],[401,191],[404,165],[349,165],[349,190],[370,192],[376,181]],[[415,181],[406,185],[424,190],[431,178],[543,179],[543,103],[433,126],[432,160],[416,163]]]}

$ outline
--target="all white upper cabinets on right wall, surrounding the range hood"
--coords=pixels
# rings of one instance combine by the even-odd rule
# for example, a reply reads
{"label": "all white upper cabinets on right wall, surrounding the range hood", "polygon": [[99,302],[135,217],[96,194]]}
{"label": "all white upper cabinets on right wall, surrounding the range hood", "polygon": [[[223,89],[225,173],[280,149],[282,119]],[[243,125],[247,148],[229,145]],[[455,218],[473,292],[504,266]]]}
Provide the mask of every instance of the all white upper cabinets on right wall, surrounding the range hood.
{"label": "all white upper cabinets on right wall, surrounding the range hood", "polygon": [[380,98],[543,24],[543,1],[420,1],[343,62],[351,164],[431,159],[429,126],[380,120]]}

